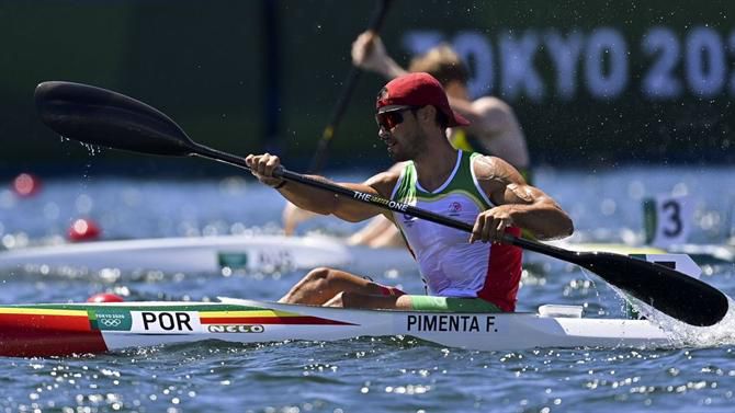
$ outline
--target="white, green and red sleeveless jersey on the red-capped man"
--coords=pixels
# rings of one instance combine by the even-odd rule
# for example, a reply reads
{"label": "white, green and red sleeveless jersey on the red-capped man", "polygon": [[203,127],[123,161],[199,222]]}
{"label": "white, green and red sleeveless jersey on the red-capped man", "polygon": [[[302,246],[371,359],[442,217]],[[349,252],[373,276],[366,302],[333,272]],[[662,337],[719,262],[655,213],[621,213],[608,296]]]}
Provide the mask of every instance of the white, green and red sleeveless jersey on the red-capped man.
{"label": "white, green and red sleeveless jersey on the red-capped man", "polygon": [[[414,162],[407,162],[391,198],[473,225],[479,213],[493,207],[472,168],[478,157],[482,156],[460,150],[450,177],[433,192],[421,187]],[[471,244],[468,232],[400,213],[393,216],[430,294],[480,297],[506,311],[514,309],[521,273],[520,249],[483,242]],[[510,228],[509,232],[520,231]]]}

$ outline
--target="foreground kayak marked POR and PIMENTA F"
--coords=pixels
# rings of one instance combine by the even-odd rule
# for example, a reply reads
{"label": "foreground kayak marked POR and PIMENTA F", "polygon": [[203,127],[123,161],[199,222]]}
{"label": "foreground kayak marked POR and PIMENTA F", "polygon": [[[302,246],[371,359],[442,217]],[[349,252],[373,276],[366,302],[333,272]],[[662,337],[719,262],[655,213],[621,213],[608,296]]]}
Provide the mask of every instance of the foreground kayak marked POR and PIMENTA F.
{"label": "foreground kayak marked POR and PIMENTA F", "polygon": [[577,306],[538,312],[358,310],[220,298],[219,302],[102,302],[0,307],[0,355],[65,356],[178,343],[233,344],[412,336],[446,347],[667,346],[646,320],[588,319]]}

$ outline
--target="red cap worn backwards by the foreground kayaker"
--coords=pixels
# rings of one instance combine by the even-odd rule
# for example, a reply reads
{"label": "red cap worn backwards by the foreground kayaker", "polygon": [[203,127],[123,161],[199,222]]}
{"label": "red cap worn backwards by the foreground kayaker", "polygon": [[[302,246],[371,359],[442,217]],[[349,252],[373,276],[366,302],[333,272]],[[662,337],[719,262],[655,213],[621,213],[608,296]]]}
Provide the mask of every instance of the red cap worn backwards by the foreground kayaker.
{"label": "red cap worn backwards by the foreground kayaker", "polygon": [[389,81],[378,93],[375,108],[377,113],[384,113],[405,106],[426,105],[432,105],[446,115],[448,126],[470,125],[470,121],[452,111],[441,83],[425,72],[408,73]]}

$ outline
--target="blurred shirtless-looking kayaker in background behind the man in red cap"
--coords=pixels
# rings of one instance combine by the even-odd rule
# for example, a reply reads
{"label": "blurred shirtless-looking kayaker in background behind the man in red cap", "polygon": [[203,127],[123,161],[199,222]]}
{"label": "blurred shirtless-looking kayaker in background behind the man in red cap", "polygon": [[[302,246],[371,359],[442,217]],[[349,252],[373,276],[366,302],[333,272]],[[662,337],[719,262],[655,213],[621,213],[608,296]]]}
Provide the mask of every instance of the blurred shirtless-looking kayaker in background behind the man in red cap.
{"label": "blurred shirtless-looking kayaker in background behind the man in red cap", "polygon": [[[352,64],[377,72],[388,80],[417,71],[433,76],[446,91],[452,110],[471,122],[470,125],[448,130],[452,146],[464,151],[501,158],[514,167],[528,183],[532,183],[525,137],[516,114],[507,103],[497,97],[483,96],[475,101],[470,99],[468,70],[450,46],[441,44],[414,57],[406,71],[388,56],[380,36],[369,31],[358,36],[352,44]],[[294,233],[296,225],[309,217],[309,213],[286,204],[283,211],[285,233]],[[396,227],[382,216],[372,219],[368,226],[353,233],[348,243],[373,248],[404,245]]]}

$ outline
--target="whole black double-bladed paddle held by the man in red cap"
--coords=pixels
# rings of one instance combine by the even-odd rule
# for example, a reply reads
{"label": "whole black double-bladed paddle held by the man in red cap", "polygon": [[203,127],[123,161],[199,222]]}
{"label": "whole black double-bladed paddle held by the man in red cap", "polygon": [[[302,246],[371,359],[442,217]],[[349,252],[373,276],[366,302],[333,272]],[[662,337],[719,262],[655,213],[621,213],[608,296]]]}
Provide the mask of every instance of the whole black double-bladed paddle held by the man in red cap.
{"label": "whole black double-bladed paddle held by the man in red cap", "polygon": [[[192,141],[163,113],[120,93],[79,83],[45,82],[36,88],[35,99],[42,121],[65,138],[143,153],[202,157],[249,170],[244,158]],[[472,232],[470,223],[283,168],[275,175]],[[663,265],[612,253],[567,251],[509,234],[505,241],[585,267],[641,301],[692,325],[712,325],[727,312],[727,297],[721,291]]]}

